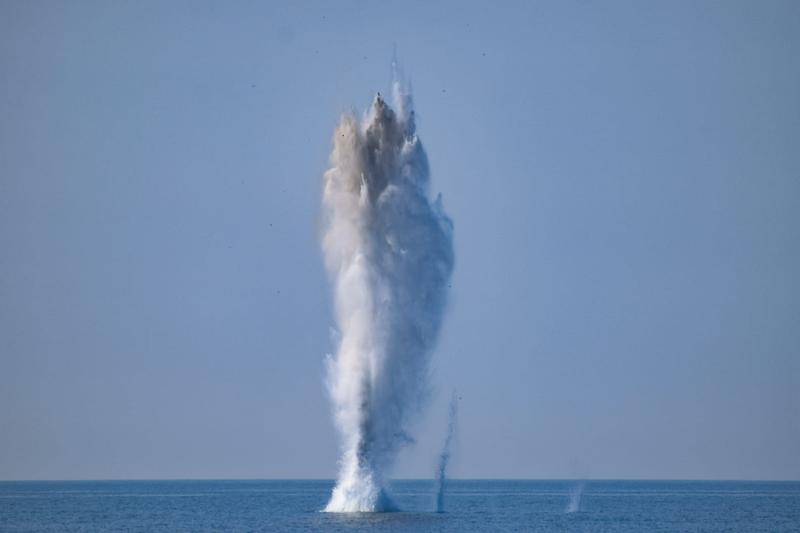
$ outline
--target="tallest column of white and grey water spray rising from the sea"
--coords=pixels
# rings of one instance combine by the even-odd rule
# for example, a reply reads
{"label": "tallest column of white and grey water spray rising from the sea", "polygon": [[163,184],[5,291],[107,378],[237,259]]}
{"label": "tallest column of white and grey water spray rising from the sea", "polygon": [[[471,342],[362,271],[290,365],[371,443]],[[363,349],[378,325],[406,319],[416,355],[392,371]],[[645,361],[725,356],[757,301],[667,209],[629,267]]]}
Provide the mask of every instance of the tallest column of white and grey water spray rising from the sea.
{"label": "tallest column of white and grey water spray rising from the sea", "polygon": [[428,193],[411,97],[395,82],[345,115],[324,176],[322,250],[341,334],[328,386],[342,457],[326,511],[394,508],[387,475],[429,396],[429,360],[453,270],[452,223]]}

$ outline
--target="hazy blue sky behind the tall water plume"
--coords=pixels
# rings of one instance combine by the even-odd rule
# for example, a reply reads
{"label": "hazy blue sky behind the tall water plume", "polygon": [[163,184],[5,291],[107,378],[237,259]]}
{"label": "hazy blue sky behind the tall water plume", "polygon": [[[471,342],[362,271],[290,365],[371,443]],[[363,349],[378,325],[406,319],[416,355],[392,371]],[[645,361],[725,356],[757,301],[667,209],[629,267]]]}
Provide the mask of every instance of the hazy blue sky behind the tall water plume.
{"label": "hazy blue sky behind the tall water plume", "polygon": [[396,474],[800,478],[800,3],[0,2],[0,479],[330,478],[321,174],[455,224]]}

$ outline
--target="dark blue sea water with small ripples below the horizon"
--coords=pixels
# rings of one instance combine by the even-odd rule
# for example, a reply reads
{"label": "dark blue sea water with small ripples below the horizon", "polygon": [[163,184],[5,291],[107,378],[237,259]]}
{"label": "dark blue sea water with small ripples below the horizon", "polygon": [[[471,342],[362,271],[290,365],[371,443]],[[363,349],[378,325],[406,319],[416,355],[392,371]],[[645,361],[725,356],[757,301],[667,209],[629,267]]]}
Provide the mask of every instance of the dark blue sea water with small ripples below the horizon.
{"label": "dark blue sea water with small ripples below the horizon", "polygon": [[[800,531],[800,483],[398,481],[404,511],[321,513],[331,481],[0,482],[2,531]],[[577,509],[575,512],[568,512]]]}

